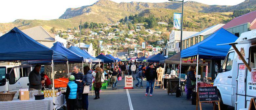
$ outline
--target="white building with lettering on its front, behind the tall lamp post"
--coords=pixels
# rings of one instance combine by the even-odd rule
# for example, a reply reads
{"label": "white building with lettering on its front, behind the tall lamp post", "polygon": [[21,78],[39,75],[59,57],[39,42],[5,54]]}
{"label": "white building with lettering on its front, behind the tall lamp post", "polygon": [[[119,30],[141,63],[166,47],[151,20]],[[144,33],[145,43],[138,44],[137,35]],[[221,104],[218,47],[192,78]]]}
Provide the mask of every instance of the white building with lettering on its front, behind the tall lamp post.
{"label": "white building with lettering on its front, behind the tall lamp post", "polygon": [[[198,32],[193,32],[193,31],[182,31],[182,39],[185,39],[193,34],[196,34]],[[181,40],[181,31],[178,30],[172,30],[170,36],[169,36],[169,41],[167,42],[167,49],[166,53],[169,51],[176,51],[176,53],[180,52],[180,46],[176,45],[177,43],[180,44]]]}

